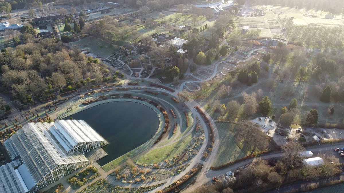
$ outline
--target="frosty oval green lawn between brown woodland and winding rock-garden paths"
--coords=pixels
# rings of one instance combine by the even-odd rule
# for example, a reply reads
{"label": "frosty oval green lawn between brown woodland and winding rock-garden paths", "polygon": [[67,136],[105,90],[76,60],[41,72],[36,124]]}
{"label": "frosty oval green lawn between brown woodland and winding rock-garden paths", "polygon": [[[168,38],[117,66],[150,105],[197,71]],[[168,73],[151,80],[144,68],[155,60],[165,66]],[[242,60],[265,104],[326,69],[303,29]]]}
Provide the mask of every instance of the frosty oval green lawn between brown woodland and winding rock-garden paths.
{"label": "frosty oval green lawn between brown woodland and winding rock-garden paths", "polygon": [[70,42],[68,44],[69,45],[75,44],[79,46],[80,49],[87,49],[90,52],[103,56],[104,58],[110,56],[110,54],[115,52],[115,50],[112,48],[112,46],[109,43],[101,39],[94,38],[94,37],[84,37],[84,38],[81,38],[81,40],[78,42]]}

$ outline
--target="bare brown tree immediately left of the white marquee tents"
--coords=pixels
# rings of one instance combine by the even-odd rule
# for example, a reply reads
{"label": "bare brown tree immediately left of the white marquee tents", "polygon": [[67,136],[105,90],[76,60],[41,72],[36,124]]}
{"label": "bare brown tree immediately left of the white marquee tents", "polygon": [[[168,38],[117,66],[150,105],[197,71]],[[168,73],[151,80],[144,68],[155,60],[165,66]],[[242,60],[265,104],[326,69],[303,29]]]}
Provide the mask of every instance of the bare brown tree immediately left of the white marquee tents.
{"label": "bare brown tree immediately left of the white marquee tents", "polygon": [[281,147],[281,149],[284,152],[282,162],[286,166],[289,166],[290,168],[294,167],[294,163],[301,161],[301,156],[299,152],[302,152],[305,150],[304,147],[300,143],[294,140],[291,140],[287,142],[286,144],[284,144]]}

